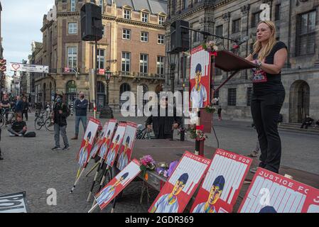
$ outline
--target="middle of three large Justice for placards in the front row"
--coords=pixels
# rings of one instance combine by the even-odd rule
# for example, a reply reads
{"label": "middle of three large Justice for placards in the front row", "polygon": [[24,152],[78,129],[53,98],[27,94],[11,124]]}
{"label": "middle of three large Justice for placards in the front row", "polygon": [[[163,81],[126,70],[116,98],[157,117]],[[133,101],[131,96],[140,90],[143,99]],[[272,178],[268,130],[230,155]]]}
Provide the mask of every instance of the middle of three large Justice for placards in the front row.
{"label": "middle of three large Justice for placards in the front row", "polygon": [[252,159],[217,149],[192,213],[231,213]]}

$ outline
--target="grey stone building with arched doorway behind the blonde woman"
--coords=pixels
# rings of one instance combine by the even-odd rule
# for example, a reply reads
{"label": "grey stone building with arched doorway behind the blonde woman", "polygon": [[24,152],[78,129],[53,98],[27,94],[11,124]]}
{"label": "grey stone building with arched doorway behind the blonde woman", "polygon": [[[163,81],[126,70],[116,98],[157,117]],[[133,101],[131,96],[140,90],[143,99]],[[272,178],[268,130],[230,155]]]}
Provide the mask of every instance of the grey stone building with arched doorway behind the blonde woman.
{"label": "grey stone building with arched doorway behind the blonde woman", "polygon": [[[249,42],[239,48],[238,55],[246,57],[252,51],[256,40],[256,24],[261,11],[268,4],[271,21],[276,23],[277,39],[286,43],[288,60],[282,72],[282,82],[286,89],[286,99],[281,114],[283,121],[296,123],[309,114],[319,118],[319,1],[318,0],[171,0],[168,1],[166,21],[166,46],[169,47],[170,24],[175,20],[189,21],[190,28],[208,31],[233,40],[248,36]],[[209,40],[212,38],[209,38]],[[190,33],[191,47],[203,43],[202,35]],[[225,49],[233,43],[224,40]],[[175,88],[183,89],[183,77],[189,78],[190,59],[187,67],[179,68],[175,74]],[[184,70],[184,72],[182,72]],[[217,70],[215,87],[218,87],[229,74]],[[244,70],[231,79],[216,96],[224,118],[252,121],[250,99],[252,96],[252,72]],[[166,77],[165,87],[170,79]],[[186,87],[187,79],[186,79]]]}

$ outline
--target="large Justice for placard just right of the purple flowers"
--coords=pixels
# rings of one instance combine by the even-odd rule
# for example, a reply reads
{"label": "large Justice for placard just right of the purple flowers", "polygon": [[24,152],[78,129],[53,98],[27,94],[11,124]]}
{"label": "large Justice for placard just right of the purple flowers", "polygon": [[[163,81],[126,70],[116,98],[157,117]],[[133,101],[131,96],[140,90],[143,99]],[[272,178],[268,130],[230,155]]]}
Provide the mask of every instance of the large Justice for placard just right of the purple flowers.
{"label": "large Justice for placard just right of the purple flowers", "polygon": [[183,213],[210,165],[205,157],[185,152],[149,213]]}

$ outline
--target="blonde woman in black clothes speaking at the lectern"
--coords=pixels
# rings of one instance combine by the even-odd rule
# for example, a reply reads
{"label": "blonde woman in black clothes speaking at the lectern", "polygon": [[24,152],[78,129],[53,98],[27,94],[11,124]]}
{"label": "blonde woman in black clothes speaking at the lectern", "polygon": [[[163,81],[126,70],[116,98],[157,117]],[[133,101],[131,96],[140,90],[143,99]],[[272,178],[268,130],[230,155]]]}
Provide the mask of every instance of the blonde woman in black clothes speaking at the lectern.
{"label": "blonde woman in black clothes speaking at the lectern", "polygon": [[279,173],[281,139],[277,123],[286,96],[281,70],[288,51],[283,42],[276,41],[276,26],[272,21],[259,22],[256,38],[254,51],[246,59],[256,65],[251,109],[261,150],[259,167]]}

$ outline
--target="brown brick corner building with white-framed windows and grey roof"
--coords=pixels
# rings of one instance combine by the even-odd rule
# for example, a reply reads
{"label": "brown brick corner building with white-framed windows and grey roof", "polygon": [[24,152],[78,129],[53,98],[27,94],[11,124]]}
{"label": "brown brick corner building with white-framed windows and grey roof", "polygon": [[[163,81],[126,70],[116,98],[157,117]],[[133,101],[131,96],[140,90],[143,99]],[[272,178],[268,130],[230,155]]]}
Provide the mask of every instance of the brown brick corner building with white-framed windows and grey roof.
{"label": "brown brick corner building with white-framed windows and grey roof", "polygon": [[[95,65],[95,51],[94,43],[81,38],[80,9],[86,2],[90,1],[55,1],[56,20],[48,21],[46,15],[43,18],[43,56],[38,60],[40,65],[49,65],[50,73],[36,76],[36,94],[41,94],[41,101],[63,94],[70,104],[80,91],[90,99],[89,70]],[[104,27],[98,42],[98,65],[112,72],[109,106],[119,111],[123,92],[136,92],[139,85],[145,92],[161,90],[167,5],[163,0],[101,0],[96,4],[102,5]],[[105,76],[98,74],[99,109],[106,103],[106,93]]]}

